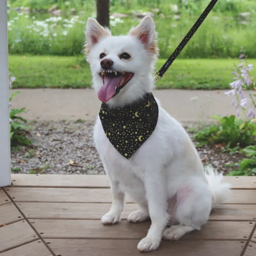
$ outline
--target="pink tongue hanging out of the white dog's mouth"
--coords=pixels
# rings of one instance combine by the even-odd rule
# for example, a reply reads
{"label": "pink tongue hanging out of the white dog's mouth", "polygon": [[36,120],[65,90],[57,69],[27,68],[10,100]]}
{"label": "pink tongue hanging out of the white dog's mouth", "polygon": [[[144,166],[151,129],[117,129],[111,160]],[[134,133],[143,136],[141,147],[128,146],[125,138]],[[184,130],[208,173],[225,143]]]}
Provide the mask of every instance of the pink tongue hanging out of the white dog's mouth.
{"label": "pink tongue hanging out of the white dog's mouth", "polygon": [[111,97],[116,94],[116,88],[121,80],[122,76],[107,77],[105,76],[104,84],[98,91],[98,98],[102,102],[108,102]]}

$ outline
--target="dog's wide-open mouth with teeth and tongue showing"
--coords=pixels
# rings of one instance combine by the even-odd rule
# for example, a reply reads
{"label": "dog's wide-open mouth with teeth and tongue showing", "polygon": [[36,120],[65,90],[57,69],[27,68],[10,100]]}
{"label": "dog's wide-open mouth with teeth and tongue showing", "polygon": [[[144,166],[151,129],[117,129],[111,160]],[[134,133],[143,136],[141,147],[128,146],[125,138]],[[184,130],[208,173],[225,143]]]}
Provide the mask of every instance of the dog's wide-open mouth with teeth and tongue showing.
{"label": "dog's wide-open mouth with teeth and tongue showing", "polygon": [[104,70],[99,75],[104,84],[98,92],[98,97],[102,102],[108,102],[131,80],[134,73]]}

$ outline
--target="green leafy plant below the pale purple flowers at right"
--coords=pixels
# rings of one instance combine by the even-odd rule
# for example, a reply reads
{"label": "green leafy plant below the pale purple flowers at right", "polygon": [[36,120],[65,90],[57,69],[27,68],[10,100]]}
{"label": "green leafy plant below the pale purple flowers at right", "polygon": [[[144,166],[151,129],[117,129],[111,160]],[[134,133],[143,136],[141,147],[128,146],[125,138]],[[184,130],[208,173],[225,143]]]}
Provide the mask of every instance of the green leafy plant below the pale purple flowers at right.
{"label": "green leafy plant below the pale purple flowers at right", "polygon": [[197,146],[205,144],[224,143],[226,148],[235,148],[238,145],[245,147],[256,143],[256,125],[252,120],[236,119],[236,116],[212,116],[218,124],[212,124],[198,130],[194,139]]}

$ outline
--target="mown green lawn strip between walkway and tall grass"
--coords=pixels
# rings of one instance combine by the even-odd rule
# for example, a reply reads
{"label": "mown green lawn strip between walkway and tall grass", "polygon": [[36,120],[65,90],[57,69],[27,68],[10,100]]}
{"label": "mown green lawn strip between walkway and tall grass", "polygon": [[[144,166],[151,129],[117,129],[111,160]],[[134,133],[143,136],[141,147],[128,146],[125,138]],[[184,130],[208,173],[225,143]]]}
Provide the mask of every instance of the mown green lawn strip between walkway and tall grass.
{"label": "mown green lawn strip between walkway and tall grass", "polygon": [[[157,68],[165,60],[157,62]],[[234,59],[178,59],[166,72],[158,89],[228,89]],[[256,65],[256,59],[248,60]],[[14,88],[84,88],[91,85],[89,65],[81,57],[9,55]],[[256,70],[252,71],[256,75]]]}

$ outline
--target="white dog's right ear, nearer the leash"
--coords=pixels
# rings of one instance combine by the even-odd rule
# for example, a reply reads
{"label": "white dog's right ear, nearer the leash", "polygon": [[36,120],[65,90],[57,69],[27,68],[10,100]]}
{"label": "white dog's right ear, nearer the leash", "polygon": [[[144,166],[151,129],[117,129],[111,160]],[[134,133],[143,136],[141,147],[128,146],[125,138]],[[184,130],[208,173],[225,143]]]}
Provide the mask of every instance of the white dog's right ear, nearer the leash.
{"label": "white dog's right ear, nearer the leash", "polygon": [[137,27],[130,30],[129,35],[137,37],[149,52],[158,54],[157,32],[150,16],[144,17]]}

